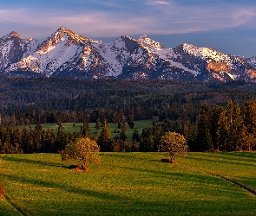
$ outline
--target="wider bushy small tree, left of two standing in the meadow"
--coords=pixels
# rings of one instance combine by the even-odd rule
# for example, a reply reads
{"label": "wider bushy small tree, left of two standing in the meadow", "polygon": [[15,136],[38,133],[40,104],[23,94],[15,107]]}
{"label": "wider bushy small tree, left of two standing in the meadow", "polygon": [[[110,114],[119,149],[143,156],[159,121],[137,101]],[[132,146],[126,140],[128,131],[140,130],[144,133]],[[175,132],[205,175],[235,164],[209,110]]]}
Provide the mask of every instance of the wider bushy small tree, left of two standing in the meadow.
{"label": "wider bushy small tree, left of two standing in the meadow", "polygon": [[100,147],[94,140],[89,139],[89,137],[79,138],[66,145],[62,153],[62,161],[77,162],[79,168],[88,170],[89,162],[101,162],[99,151]]}

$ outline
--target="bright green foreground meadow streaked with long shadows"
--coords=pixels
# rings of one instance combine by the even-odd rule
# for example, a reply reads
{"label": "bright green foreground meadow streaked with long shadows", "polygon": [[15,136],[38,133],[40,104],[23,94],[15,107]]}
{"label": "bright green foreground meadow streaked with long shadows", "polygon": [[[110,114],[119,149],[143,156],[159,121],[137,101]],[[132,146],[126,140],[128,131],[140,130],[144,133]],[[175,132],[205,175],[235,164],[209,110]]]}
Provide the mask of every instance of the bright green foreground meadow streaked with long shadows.
{"label": "bright green foreground meadow streaked with long shadows", "polygon": [[[255,195],[215,176],[256,189],[256,153],[166,157],[102,153],[102,164],[79,172],[60,155],[0,155],[0,181],[23,215],[256,215]],[[18,215],[8,200],[0,215]]]}

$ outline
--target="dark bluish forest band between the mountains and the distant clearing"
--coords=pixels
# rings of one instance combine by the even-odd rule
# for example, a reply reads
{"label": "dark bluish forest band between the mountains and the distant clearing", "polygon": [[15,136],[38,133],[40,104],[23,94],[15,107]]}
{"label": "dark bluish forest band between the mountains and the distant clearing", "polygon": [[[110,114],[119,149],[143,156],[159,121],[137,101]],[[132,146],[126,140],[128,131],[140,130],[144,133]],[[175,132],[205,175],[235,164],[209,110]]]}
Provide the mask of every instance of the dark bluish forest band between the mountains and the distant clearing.
{"label": "dark bluish forest band between the mountains and the distant clearing", "polygon": [[[182,113],[195,115],[200,105],[224,105],[228,99],[242,104],[256,96],[256,85],[243,81],[226,84],[172,80],[88,80],[6,78],[0,76],[0,120],[4,125],[82,122],[84,113],[118,121],[126,118],[160,120]],[[186,109],[182,108],[186,106]],[[166,113],[167,112],[167,113]],[[186,114],[186,112],[189,112]],[[175,113],[173,116],[169,113]]]}

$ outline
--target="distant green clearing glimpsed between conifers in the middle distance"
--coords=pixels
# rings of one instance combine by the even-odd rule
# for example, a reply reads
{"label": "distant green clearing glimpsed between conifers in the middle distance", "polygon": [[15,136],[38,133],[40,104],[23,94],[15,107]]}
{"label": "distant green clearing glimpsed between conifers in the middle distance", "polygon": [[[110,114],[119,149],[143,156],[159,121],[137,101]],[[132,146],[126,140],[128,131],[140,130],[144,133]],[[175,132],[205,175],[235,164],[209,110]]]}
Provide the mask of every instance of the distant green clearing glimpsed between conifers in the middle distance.
{"label": "distant green clearing glimpsed between conifers in the middle distance", "polygon": [[[150,126],[152,124],[152,120],[141,120],[141,121],[135,121],[135,127],[138,129],[139,133],[141,134],[142,132],[142,129],[144,127],[147,127],[147,126]],[[34,124],[31,124],[31,127],[34,128],[36,125]],[[57,130],[58,128],[58,125],[57,124],[50,124],[50,123],[47,123],[47,124],[42,124],[43,126],[43,130]],[[62,126],[64,127],[64,129],[70,133],[74,133],[74,132],[78,132],[81,130],[81,126],[82,126],[82,123],[62,123]],[[108,127],[109,127],[109,130],[112,134],[112,137],[115,137],[117,136],[118,134],[115,133],[115,130],[116,131],[121,131],[121,129],[118,129],[117,128],[117,124],[108,124]],[[23,126],[21,126],[21,128],[23,128]],[[96,136],[100,136],[101,134],[101,129],[100,130],[95,130],[95,123],[89,123],[89,128],[90,128],[90,132],[91,134],[94,134]],[[134,133],[134,129],[130,129],[128,127],[128,130],[126,131],[126,135],[128,136],[128,139],[131,140],[132,139],[132,136],[133,136],[133,133]]]}

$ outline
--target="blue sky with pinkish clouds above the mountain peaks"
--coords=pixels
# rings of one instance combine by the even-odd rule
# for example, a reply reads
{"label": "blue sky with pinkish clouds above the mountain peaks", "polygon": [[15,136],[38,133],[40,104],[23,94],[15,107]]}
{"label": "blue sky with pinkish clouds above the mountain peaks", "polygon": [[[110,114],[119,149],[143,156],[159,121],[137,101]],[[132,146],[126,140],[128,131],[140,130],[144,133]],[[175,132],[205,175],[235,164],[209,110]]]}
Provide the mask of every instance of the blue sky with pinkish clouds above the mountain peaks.
{"label": "blue sky with pinkish clouds above the mountain peaks", "polygon": [[256,56],[255,0],[8,0],[0,2],[0,37],[16,31],[45,40],[64,26],[105,42],[148,35],[165,48],[183,43]]}

